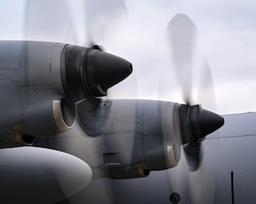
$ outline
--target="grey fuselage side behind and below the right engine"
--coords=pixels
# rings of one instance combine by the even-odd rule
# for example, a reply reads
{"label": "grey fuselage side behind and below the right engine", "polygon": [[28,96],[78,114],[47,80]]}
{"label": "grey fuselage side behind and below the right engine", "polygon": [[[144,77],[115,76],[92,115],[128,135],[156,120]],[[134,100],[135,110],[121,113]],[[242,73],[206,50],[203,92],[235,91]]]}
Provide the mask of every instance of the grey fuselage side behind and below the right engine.
{"label": "grey fuselage side behind and below the right engine", "polygon": [[225,126],[204,141],[203,163],[197,172],[188,171],[182,151],[177,167],[151,172],[146,178],[95,179],[78,195],[60,203],[168,204],[173,192],[181,196],[178,203],[254,203],[256,127],[252,124],[256,113],[224,119]]}

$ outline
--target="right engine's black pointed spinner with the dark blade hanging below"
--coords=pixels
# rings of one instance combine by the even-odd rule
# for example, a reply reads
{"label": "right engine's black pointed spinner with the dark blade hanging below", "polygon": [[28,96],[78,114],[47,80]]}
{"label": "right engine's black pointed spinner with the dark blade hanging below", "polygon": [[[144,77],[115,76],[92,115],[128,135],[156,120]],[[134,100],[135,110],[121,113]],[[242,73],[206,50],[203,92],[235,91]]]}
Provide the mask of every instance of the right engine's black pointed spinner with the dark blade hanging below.
{"label": "right engine's black pointed spinner with the dark blade hanging below", "polygon": [[201,165],[201,141],[207,134],[224,125],[224,118],[201,109],[199,105],[181,105],[179,109],[182,144],[189,163],[189,170],[196,171]]}

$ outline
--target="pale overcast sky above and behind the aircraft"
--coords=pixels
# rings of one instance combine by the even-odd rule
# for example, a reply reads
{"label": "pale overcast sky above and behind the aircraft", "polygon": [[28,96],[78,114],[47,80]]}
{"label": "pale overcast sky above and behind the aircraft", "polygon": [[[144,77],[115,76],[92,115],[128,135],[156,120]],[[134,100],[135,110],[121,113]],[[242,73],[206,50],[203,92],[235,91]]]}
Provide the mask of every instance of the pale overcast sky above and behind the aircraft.
{"label": "pale overcast sky above and behind the aircraft", "polygon": [[[96,11],[86,9],[82,0],[68,1],[67,4],[61,0],[56,3],[38,0],[38,6],[37,1],[31,2],[27,5],[24,0],[0,1],[0,38],[69,42],[83,46],[92,38],[106,51],[130,60],[134,67],[131,77],[109,90],[108,96],[112,98],[164,99],[183,103],[180,82],[166,45],[166,26],[175,14],[187,14],[198,33],[193,71],[195,103],[210,109],[214,106],[214,97],[209,96],[212,91],[206,93],[197,86],[201,83],[202,65],[207,60],[212,70],[218,113],[256,111],[254,0],[126,0],[127,15],[118,18],[113,15],[111,23],[102,20],[102,16],[112,14],[110,9],[113,7],[108,5],[103,6],[103,12],[100,7]],[[52,8],[45,12],[49,5]],[[89,20],[84,12],[93,18]],[[93,24],[99,25],[96,22],[109,26],[95,27]],[[90,26],[86,26],[89,23]],[[98,30],[94,31],[96,28]]]}

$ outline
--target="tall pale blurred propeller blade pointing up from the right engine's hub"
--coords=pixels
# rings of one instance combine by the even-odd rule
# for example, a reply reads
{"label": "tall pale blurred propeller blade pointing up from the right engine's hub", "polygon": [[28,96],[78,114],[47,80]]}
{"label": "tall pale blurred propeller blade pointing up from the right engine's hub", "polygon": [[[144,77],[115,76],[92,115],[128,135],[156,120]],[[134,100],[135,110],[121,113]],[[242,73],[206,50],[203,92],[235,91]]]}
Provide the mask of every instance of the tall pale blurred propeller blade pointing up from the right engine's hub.
{"label": "tall pale blurred propeller blade pointing up from the right engine's hub", "polygon": [[195,47],[196,29],[193,22],[184,14],[177,14],[167,26],[168,46],[172,48],[177,77],[181,82],[183,99],[191,102],[192,60]]}

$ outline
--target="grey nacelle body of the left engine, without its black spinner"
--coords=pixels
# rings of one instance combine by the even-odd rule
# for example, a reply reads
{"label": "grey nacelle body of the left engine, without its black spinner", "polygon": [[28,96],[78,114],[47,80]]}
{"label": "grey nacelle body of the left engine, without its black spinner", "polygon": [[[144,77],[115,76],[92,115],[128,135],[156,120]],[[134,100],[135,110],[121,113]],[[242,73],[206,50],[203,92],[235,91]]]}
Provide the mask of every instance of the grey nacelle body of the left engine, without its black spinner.
{"label": "grey nacelle body of the left engine, without its black spinner", "polygon": [[54,42],[0,42],[1,146],[32,144],[33,138],[73,126],[61,82],[65,47]]}

